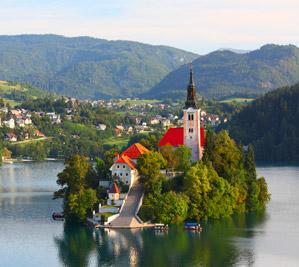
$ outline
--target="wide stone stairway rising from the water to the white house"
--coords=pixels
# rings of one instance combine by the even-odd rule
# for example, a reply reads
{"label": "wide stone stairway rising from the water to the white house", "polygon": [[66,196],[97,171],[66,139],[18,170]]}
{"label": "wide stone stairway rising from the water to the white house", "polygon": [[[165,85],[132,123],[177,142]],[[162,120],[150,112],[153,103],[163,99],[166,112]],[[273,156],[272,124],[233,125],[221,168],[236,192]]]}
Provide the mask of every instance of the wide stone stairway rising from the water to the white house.
{"label": "wide stone stairway rising from the water to the white house", "polygon": [[143,187],[140,183],[135,183],[128,194],[127,200],[119,216],[113,220],[108,228],[143,228],[152,227],[151,224],[140,222],[135,216],[139,202],[143,195]]}

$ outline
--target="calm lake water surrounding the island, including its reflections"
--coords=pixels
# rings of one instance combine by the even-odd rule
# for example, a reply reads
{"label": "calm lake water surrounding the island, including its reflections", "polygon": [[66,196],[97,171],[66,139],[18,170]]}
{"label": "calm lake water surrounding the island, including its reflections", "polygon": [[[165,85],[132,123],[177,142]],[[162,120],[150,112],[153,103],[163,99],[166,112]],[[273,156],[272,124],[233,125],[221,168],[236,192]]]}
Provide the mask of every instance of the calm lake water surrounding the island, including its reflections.
{"label": "calm lake water surrounding the island, including its reflections", "polygon": [[62,168],[0,167],[0,267],[299,266],[299,167],[259,167],[272,194],[267,211],[206,223],[201,234],[181,227],[92,231],[52,221]]}

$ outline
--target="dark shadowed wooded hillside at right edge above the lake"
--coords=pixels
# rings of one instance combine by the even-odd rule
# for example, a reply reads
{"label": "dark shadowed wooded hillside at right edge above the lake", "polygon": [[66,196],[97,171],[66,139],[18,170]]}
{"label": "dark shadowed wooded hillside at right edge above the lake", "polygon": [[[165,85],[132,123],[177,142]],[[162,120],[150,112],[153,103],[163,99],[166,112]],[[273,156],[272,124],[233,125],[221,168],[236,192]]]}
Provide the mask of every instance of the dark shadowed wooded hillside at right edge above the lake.
{"label": "dark shadowed wooded hillside at right edge above the lake", "polygon": [[299,83],[267,93],[235,114],[227,128],[255,147],[257,160],[299,162]]}

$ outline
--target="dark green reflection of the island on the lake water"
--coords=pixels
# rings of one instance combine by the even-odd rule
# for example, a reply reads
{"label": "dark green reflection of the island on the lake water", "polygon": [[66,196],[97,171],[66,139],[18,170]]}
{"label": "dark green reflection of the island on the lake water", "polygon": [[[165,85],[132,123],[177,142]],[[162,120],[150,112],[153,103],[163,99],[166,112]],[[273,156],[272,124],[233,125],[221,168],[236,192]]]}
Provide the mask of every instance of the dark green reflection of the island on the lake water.
{"label": "dark green reflection of the island on the lake water", "polygon": [[63,238],[55,242],[66,266],[249,266],[254,262],[251,238],[263,223],[264,213],[239,215],[206,223],[200,234],[182,226],[159,234],[65,225]]}

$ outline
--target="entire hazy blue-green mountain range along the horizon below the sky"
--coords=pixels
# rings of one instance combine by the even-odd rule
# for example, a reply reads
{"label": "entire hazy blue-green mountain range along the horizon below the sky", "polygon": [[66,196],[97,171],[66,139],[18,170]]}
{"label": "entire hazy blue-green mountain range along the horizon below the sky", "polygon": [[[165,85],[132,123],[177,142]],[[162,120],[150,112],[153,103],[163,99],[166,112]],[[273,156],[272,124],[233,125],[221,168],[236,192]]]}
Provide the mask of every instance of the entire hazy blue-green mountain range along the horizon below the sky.
{"label": "entire hazy blue-green mountain range along the horizon below the sky", "polygon": [[185,97],[193,61],[200,94],[256,96],[299,81],[299,48],[266,45],[205,56],[167,46],[57,35],[0,36],[0,80],[78,98]]}

